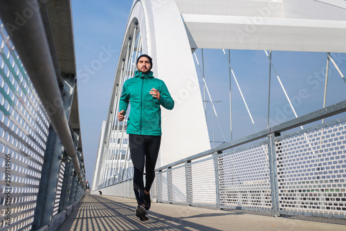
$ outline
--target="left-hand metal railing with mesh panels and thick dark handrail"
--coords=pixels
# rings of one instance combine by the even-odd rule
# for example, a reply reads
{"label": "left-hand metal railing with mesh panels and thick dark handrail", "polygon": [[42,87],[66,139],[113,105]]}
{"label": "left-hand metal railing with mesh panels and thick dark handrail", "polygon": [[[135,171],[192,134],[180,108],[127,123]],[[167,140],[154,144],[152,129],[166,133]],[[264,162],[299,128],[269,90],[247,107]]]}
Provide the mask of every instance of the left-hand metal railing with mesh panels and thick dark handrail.
{"label": "left-hand metal railing with mesh panels and thick dark handrail", "polygon": [[57,230],[86,191],[75,76],[56,75],[39,4],[0,3],[0,230]]}

